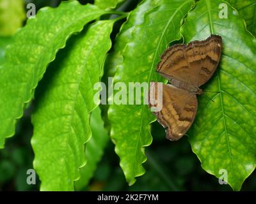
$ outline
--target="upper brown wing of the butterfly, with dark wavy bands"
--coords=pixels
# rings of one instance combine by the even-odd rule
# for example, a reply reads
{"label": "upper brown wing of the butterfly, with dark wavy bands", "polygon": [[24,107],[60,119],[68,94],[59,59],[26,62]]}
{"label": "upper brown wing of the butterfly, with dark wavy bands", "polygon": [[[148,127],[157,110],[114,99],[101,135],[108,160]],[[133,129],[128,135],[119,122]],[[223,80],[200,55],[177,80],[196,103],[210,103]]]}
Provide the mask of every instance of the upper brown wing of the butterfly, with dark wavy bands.
{"label": "upper brown wing of the butterfly, with dark wavy bands", "polygon": [[157,72],[170,80],[179,80],[193,87],[205,84],[220,61],[222,40],[211,35],[207,40],[178,44],[166,50],[157,66]]}

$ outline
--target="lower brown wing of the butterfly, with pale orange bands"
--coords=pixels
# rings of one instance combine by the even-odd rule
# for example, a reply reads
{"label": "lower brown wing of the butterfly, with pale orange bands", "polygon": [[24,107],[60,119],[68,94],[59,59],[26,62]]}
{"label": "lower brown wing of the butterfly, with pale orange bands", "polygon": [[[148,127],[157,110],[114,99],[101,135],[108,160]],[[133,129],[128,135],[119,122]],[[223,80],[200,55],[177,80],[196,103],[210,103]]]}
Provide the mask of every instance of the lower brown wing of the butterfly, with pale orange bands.
{"label": "lower brown wing of the butterfly, with pale orange bands", "polygon": [[[156,100],[157,82],[150,85],[150,94]],[[166,138],[169,140],[179,140],[193,123],[197,110],[197,99],[195,94],[179,89],[170,84],[163,84],[163,108],[159,112],[154,112],[159,123],[166,128]],[[150,100],[149,100],[150,101]],[[153,105],[149,103],[149,106]]]}

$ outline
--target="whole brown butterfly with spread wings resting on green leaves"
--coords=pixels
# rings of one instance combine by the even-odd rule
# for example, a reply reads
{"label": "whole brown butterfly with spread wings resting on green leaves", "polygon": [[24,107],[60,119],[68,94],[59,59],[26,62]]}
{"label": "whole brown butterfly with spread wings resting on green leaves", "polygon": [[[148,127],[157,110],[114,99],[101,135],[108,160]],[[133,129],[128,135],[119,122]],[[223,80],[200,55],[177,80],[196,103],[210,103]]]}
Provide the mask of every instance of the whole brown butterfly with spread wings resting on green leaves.
{"label": "whole brown butterfly with spread wings resting on green leaves", "polygon": [[[221,36],[212,34],[203,41],[173,45],[161,56],[156,71],[170,84],[163,84],[163,106],[153,113],[166,129],[169,140],[179,140],[193,123],[197,111],[196,94],[203,94],[199,87],[212,77],[219,64],[221,50]],[[160,103],[157,101],[158,85],[157,82],[150,84],[150,108]],[[152,98],[156,98],[156,103],[152,103]]]}

